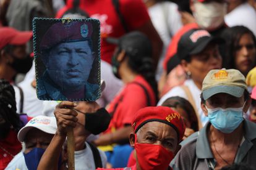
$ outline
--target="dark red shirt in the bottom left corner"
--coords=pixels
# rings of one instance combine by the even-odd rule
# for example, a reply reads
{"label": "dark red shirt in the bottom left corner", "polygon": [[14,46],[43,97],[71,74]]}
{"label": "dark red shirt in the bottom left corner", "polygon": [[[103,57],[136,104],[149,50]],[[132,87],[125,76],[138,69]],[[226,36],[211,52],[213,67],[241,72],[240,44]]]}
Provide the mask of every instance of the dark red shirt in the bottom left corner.
{"label": "dark red shirt in the bottom left corner", "polygon": [[11,130],[6,139],[0,140],[0,170],[4,170],[20,150],[22,145],[17,139],[17,133]]}

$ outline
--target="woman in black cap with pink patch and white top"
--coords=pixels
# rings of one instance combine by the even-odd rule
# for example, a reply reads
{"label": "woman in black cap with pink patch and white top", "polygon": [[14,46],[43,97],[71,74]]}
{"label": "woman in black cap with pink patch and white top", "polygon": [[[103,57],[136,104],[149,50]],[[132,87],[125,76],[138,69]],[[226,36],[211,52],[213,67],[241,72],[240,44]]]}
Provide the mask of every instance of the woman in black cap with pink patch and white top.
{"label": "woman in black cap with pink patch and white top", "polygon": [[221,68],[221,55],[218,50],[220,39],[213,38],[206,30],[190,30],[185,33],[178,43],[177,57],[187,73],[189,79],[184,86],[171,89],[158,102],[158,105],[169,97],[179,96],[189,100],[198,116],[199,128],[207,123],[208,119],[200,108],[200,93],[203,78],[208,71]]}

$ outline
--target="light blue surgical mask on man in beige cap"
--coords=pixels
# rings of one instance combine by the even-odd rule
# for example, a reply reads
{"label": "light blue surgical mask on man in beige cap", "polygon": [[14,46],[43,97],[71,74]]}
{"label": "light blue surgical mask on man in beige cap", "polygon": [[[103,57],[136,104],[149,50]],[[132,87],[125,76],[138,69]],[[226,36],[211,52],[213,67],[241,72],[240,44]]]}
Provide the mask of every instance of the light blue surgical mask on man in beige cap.
{"label": "light blue surgical mask on man in beige cap", "polygon": [[[244,102],[245,104],[245,102]],[[205,106],[207,108],[207,106]],[[207,108],[210,123],[219,131],[229,134],[243,121],[243,108]]]}

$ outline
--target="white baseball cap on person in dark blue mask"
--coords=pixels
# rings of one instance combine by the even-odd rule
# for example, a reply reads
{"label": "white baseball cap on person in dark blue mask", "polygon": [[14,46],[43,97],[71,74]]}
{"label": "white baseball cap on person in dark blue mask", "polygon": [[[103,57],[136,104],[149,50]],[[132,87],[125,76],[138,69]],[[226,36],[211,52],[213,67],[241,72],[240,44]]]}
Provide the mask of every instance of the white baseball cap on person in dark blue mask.
{"label": "white baseball cap on person in dark blue mask", "polygon": [[28,123],[20,129],[18,133],[18,140],[23,142],[27,132],[32,129],[37,128],[40,131],[46,132],[48,134],[55,134],[57,130],[56,118],[54,116],[36,116],[35,118],[28,121]]}

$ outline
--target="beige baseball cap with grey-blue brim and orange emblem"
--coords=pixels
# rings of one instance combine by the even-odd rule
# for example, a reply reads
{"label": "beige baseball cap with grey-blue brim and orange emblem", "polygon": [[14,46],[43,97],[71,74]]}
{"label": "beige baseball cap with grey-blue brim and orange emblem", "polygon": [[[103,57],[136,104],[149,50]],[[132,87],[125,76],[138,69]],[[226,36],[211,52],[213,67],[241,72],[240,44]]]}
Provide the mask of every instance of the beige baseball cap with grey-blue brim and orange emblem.
{"label": "beige baseball cap with grey-blue brim and orange emblem", "polygon": [[245,77],[235,69],[211,70],[203,79],[202,94],[205,100],[218,93],[241,97],[244,90],[247,90]]}

